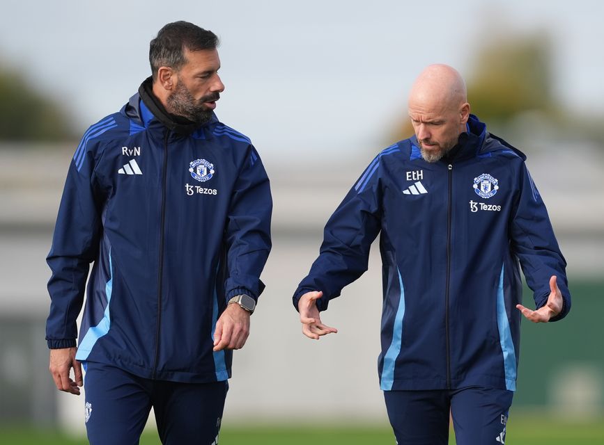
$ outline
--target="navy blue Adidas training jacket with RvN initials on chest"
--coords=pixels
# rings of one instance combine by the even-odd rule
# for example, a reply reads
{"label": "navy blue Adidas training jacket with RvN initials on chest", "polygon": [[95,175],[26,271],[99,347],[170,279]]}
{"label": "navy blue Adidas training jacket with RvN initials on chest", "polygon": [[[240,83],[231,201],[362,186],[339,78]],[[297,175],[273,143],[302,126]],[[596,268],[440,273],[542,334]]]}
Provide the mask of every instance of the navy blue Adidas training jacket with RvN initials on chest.
{"label": "navy blue Adidas training jacket with RvN initials on chest", "polygon": [[269,180],[249,138],[215,115],[192,128],[162,111],[141,86],[77,147],[47,257],[46,338],[75,346],[94,261],[77,359],[144,378],[226,380],[231,351],[213,353],[212,336],[229,298],[263,291]]}

